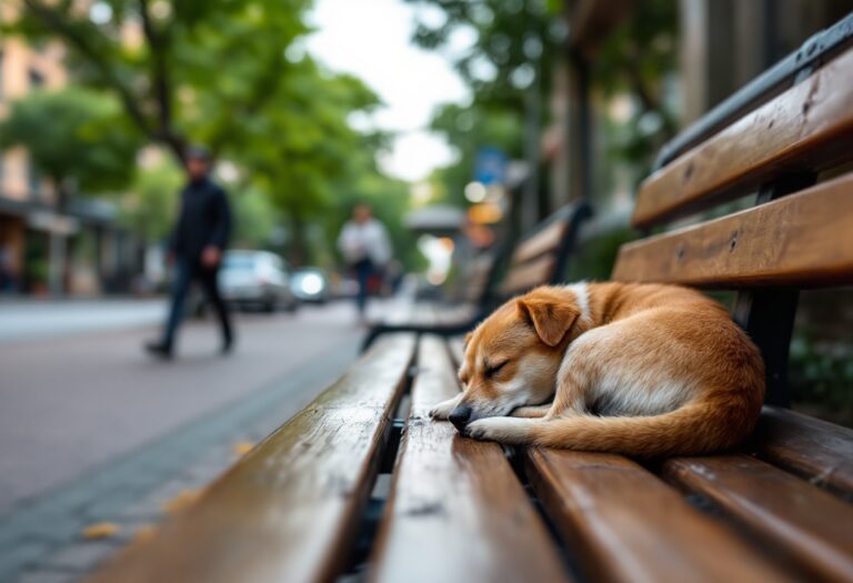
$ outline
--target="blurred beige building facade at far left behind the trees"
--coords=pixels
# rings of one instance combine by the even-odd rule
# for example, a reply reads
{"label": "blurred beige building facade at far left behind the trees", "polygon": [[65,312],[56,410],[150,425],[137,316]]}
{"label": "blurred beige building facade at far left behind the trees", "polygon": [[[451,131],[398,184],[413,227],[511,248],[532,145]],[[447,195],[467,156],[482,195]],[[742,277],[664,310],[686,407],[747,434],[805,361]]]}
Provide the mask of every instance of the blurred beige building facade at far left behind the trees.
{"label": "blurred beige building facade at far left behind the trees", "polygon": [[[9,4],[0,6],[1,19]],[[0,37],[0,119],[32,91],[68,82],[61,44]],[[127,289],[134,263],[114,204],[73,198],[63,212],[26,150],[0,152],[0,293],[90,295]]]}

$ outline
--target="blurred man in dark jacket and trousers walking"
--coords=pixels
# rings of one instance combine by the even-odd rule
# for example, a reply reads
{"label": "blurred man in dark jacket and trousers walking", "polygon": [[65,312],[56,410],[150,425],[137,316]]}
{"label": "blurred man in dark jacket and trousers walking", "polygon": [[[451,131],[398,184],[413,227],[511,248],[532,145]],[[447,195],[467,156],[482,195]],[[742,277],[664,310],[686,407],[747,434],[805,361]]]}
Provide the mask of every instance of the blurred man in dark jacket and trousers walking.
{"label": "blurred man in dark jacket and trousers walking", "polygon": [[203,148],[187,152],[188,183],[181,191],[181,211],[169,240],[174,264],[171,308],[163,336],[145,344],[151,354],[169,359],[193,281],[201,284],[222,329],[222,352],[233,348],[234,333],[228,306],[219,291],[218,273],[231,233],[231,209],[225,192],[210,178],[210,154]]}

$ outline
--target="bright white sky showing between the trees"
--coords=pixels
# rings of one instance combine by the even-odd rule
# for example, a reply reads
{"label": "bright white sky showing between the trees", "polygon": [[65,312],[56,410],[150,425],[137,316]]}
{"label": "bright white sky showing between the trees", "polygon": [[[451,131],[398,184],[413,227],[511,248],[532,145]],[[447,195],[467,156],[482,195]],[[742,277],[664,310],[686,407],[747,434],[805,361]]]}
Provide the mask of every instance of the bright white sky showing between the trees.
{"label": "bright white sky showing between the trees", "polygon": [[[352,121],[400,133],[380,165],[410,181],[452,160],[448,144],[424,131],[435,107],[469,99],[445,56],[411,44],[414,14],[402,0],[317,0],[309,21],[318,32],[308,39],[314,58],[333,71],[361,78],[385,103],[372,120]],[[433,22],[443,18],[438,9],[421,9],[419,16]],[[471,40],[461,32],[450,50],[461,52]]]}

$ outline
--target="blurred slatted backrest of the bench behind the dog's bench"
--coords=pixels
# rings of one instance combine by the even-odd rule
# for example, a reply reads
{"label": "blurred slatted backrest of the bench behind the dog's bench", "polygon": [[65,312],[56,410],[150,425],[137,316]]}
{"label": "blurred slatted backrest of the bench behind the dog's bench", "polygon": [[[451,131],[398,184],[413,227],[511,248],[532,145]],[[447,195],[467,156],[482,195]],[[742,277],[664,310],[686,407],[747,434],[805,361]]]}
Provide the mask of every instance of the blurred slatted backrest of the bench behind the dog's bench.
{"label": "blurred slatted backrest of the bench behind the dog's bench", "polygon": [[499,295],[506,298],[536,285],[562,281],[580,224],[591,214],[584,201],[568,204],[519,241],[510,257]]}

